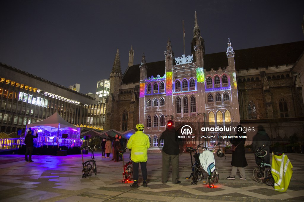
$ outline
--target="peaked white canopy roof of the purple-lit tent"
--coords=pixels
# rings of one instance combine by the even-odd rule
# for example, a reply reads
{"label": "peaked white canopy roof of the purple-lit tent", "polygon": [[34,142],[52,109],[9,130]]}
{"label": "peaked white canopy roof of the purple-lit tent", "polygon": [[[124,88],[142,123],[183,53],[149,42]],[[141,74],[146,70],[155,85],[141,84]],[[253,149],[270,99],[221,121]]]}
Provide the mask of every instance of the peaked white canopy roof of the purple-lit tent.
{"label": "peaked white canopy roof of the purple-lit tent", "polygon": [[78,130],[78,127],[65,121],[57,112],[45,120],[38,121],[36,123],[27,124],[26,128],[31,128],[34,126],[49,126],[49,127],[54,127],[54,128],[58,128],[58,127],[59,128],[73,128],[73,129]]}

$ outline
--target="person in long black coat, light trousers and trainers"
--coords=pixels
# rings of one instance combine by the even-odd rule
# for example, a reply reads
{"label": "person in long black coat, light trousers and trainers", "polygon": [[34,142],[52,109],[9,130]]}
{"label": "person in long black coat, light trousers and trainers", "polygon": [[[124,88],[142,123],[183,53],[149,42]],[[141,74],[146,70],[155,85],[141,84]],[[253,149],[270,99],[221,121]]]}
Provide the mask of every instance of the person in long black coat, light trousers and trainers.
{"label": "person in long black coat, light trousers and trainers", "polygon": [[[243,129],[243,126],[239,125],[237,126],[238,130]],[[231,174],[229,177],[226,177],[229,180],[234,180],[235,175],[237,174],[237,170],[240,171],[240,179],[241,180],[246,180],[246,173],[244,167],[246,167],[247,161],[245,157],[245,142],[246,142],[246,133],[244,133],[242,130],[238,131],[237,134],[235,135],[237,138],[233,138],[230,140],[230,142],[236,146],[235,151],[232,152],[232,160],[231,160],[231,165],[232,165],[232,170]],[[244,138],[240,137],[243,136]]]}

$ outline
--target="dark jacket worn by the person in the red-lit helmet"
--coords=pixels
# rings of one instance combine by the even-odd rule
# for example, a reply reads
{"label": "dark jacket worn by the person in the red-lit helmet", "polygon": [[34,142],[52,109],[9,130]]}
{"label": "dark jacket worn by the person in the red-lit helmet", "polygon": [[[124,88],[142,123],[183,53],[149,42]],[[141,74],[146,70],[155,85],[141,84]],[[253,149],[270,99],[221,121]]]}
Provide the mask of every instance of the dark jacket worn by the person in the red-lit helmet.
{"label": "dark jacket worn by the person in the red-lit helmet", "polygon": [[179,145],[181,142],[175,141],[175,136],[178,136],[178,132],[175,130],[174,126],[167,127],[166,130],[161,133],[159,141],[164,140],[164,153],[169,155],[179,154]]}

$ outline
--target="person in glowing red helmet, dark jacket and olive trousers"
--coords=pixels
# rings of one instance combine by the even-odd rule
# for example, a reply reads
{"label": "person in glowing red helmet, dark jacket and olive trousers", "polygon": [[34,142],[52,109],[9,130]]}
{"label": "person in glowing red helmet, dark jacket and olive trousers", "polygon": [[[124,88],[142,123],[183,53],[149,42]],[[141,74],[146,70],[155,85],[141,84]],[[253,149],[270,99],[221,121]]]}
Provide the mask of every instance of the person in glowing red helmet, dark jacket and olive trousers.
{"label": "person in glowing red helmet, dark jacket and olive trousers", "polygon": [[175,130],[174,122],[172,120],[169,120],[166,130],[161,134],[159,138],[159,141],[164,140],[161,171],[162,183],[167,183],[168,181],[168,170],[170,163],[172,165],[172,183],[181,183],[181,181],[178,180],[180,152],[179,147],[181,145],[181,142],[176,141],[176,136],[178,136],[178,132]]}

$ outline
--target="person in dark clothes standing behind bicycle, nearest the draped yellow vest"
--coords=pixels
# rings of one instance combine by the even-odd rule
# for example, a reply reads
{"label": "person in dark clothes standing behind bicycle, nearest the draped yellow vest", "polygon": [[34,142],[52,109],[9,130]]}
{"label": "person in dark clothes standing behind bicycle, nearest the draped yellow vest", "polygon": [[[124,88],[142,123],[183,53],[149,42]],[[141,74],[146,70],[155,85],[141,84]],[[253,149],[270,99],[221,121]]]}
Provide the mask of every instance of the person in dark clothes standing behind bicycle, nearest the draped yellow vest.
{"label": "person in dark clothes standing behind bicycle, nearest the draped yellow vest", "polygon": [[[253,136],[252,139],[252,150],[255,152],[256,150],[259,149],[259,147],[263,148],[264,146],[264,150],[267,151],[266,156],[264,157],[264,162],[270,164],[270,138],[268,136],[268,134],[265,132],[264,127],[262,125],[257,126],[257,134],[255,136]],[[256,155],[254,155],[255,157],[255,163],[257,163],[257,165],[259,165],[261,163],[261,158],[257,157]]]}

